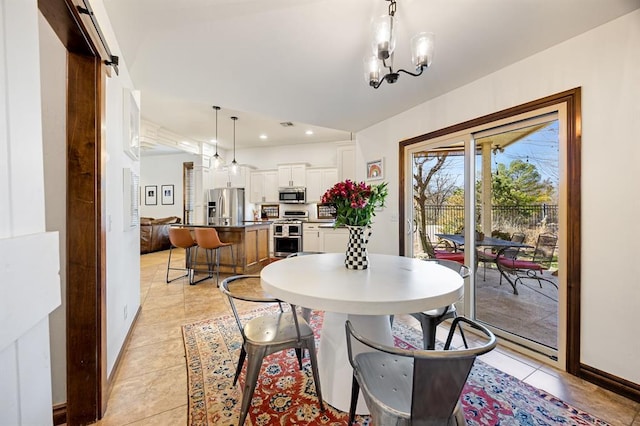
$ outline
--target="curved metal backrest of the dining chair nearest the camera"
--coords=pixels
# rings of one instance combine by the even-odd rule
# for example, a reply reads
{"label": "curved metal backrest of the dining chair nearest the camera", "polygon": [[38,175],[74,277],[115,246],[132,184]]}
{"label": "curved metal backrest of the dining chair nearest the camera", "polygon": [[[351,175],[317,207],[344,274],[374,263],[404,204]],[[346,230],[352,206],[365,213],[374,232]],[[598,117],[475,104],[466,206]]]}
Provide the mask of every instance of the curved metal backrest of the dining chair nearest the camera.
{"label": "curved metal backrest of the dining chair nearest the camera", "polygon": [[[456,328],[460,327],[460,323],[475,328],[487,340],[473,348],[451,350],[453,335]],[[381,345],[360,335],[353,329],[349,321],[346,322],[345,328],[349,361],[354,368],[358,368],[358,364],[353,358],[351,336],[377,351],[386,352],[392,356],[413,358],[410,424],[414,425],[450,424],[449,421],[453,416],[476,357],[491,351],[497,344],[495,335],[489,329],[464,317],[456,317],[453,320],[443,350],[406,350]],[[367,357],[371,356],[370,354],[363,353],[357,357]],[[394,371],[389,368],[389,374],[392,373],[405,374],[404,371]],[[363,389],[362,386],[361,389]],[[391,396],[391,398],[394,397],[397,396]],[[371,398],[371,400],[376,400],[376,398]],[[379,407],[376,409],[369,407],[369,409],[372,412],[379,411]],[[394,416],[393,412],[388,414]]]}

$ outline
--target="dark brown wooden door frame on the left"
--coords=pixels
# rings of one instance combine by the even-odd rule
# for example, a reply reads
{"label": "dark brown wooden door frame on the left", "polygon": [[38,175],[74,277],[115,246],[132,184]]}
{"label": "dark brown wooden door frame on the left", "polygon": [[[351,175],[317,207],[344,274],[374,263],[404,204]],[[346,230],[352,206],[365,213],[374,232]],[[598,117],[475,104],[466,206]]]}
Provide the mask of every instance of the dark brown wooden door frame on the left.
{"label": "dark brown wooden door frame on the left", "polygon": [[54,423],[89,424],[108,397],[103,135],[106,66],[72,0],[38,0],[67,49],[67,402]]}

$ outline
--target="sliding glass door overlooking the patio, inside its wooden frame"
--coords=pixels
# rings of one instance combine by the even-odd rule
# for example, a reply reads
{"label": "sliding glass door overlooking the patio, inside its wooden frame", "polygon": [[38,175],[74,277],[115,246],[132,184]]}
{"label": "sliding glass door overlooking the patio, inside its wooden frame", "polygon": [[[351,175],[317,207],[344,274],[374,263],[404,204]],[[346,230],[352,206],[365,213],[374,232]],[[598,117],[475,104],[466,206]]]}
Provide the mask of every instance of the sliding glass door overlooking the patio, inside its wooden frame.
{"label": "sliding glass door overlooking the patio, inside its wooden frame", "polygon": [[405,255],[463,252],[475,273],[460,310],[551,360],[566,337],[563,117],[543,108],[413,143],[404,155]]}

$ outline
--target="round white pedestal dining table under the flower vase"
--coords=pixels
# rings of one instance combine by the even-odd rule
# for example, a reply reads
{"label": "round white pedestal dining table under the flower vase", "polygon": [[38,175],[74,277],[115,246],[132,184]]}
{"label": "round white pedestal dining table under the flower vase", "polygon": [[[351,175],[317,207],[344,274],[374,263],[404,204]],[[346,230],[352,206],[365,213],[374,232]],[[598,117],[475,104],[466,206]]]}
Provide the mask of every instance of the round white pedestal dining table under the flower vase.
{"label": "round white pedestal dining table under the flower vase", "polygon": [[[344,324],[348,319],[364,336],[393,345],[390,314],[448,306],[463,295],[464,281],[435,262],[369,254],[369,267],[347,269],[344,253],[295,256],[271,263],[260,273],[262,287],[293,305],[325,311],[318,369],[323,399],[349,411],[352,369]],[[354,346],[354,352],[365,350]],[[371,350],[371,349],[369,349]],[[360,395],[356,411],[368,410]]]}

